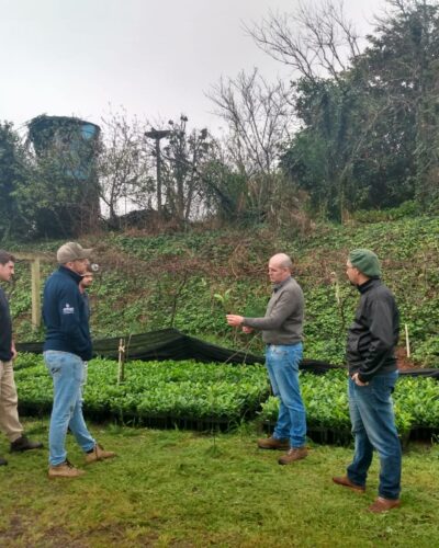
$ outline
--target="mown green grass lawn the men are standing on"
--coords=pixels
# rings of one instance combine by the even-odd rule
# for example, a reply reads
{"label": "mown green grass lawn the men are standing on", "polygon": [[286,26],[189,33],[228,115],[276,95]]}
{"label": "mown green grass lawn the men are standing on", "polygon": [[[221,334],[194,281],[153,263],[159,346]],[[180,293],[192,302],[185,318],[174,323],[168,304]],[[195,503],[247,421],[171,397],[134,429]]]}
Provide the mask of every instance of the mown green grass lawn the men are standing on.
{"label": "mown green grass lawn the men are standing on", "polygon": [[[48,421],[25,420],[47,439]],[[372,515],[373,465],[365,494],[337,487],[351,448],[311,444],[309,457],[279,466],[258,450],[256,430],[200,434],[91,427],[119,457],[75,480],[48,480],[47,450],[8,455],[0,441],[3,547],[435,547],[439,546],[439,445],[412,445],[403,463],[403,506]],[[69,458],[82,464],[75,439]],[[376,458],[375,458],[376,460]]]}

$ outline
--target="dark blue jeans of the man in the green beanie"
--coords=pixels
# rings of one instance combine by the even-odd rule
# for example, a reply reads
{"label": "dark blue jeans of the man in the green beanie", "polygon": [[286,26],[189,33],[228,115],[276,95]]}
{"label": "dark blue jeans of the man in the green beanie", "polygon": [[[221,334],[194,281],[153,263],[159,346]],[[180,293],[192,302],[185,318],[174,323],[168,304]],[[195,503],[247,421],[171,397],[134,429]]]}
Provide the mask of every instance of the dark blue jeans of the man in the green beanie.
{"label": "dark blue jeans of the man in the green beanie", "polygon": [[365,484],[373,449],[380,456],[379,494],[398,499],[401,492],[401,443],[395,426],[392,392],[397,372],[376,375],[368,386],[357,386],[349,379],[349,412],[356,449],[348,466],[348,478]]}

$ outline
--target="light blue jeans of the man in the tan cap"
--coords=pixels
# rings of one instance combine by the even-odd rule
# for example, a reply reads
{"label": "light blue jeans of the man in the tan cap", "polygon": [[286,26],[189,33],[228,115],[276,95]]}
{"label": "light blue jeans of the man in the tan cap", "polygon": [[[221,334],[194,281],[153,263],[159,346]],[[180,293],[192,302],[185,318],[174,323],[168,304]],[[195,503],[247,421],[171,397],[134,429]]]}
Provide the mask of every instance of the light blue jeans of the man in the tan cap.
{"label": "light blue jeans of the man in the tan cap", "polygon": [[49,465],[66,460],[66,435],[70,429],[83,452],[91,450],[95,441],[82,416],[83,362],[68,352],[48,350],[44,362],[54,381],[54,404],[48,434]]}

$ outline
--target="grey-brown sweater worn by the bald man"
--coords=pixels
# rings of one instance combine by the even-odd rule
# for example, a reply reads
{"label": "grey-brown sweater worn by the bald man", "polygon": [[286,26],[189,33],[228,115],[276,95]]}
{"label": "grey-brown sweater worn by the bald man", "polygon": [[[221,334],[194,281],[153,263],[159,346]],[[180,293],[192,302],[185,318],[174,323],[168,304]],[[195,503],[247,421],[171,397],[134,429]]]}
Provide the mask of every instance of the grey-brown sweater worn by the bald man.
{"label": "grey-brown sweater worn by the bald man", "polygon": [[244,326],[262,331],[266,344],[295,344],[302,341],[304,298],[301,286],[289,277],[274,286],[263,318],[244,318]]}

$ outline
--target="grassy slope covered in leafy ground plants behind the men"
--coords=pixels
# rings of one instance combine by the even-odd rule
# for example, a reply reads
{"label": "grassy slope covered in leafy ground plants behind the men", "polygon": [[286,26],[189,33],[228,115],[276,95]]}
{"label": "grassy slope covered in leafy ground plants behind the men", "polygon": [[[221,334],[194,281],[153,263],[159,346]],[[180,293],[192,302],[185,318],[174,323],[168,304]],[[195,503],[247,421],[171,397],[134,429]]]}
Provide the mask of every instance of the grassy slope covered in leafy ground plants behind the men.
{"label": "grassy slope covered in leafy ground plants behind the men", "polygon": [[[383,259],[384,281],[396,295],[415,358],[439,365],[439,218],[324,225],[306,238],[262,228],[155,238],[97,235],[81,241],[95,247],[102,265],[91,295],[95,338],[173,326],[204,340],[260,352],[260,338],[230,330],[224,313],[263,315],[270,290],[267,259],[282,250],[293,256],[294,275],[305,293],[305,355],[333,363],[344,361],[346,328],[358,300],[346,282],[346,256],[352,248],[369,247]],[[59,243],[27,248],[53,256]],[[53,267],[46,264],[44,275]],[[36,335],[30,330],[29,269],[16,270],[11,304],[24,341]]]}

